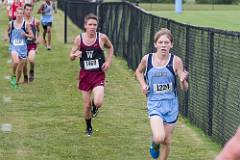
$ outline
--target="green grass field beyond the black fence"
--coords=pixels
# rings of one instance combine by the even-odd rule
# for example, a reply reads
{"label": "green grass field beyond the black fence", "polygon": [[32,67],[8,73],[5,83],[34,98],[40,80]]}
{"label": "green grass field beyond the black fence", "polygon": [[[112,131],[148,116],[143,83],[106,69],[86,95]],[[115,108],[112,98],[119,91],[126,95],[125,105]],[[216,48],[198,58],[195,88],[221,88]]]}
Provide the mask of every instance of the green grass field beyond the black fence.
{"label": "green grass field beyond the black fence", "polygon": [[240,31],[240,5],[199,5],[184,4],[183,12],[177,14],[173,4],[142,4],[142,8],[152,14],[169,18],[177,22],[217,28],[228,31]]}

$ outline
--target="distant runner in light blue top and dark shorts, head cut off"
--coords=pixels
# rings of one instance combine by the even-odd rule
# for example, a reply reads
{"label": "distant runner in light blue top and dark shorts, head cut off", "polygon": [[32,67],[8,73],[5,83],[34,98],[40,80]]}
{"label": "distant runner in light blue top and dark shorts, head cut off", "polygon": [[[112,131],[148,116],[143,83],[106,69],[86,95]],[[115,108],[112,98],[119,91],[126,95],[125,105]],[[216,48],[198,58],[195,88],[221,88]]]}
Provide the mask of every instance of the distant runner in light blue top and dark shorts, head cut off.
{"label": "distant runner in light blue top and dark shorts, head cut off", "polygon": [[51,28],[53,23],[53,11],[56,13],[56,7],[55,3],[53,3],[51,0],[44,0],[44,3],[38,9],[38,13],[42,14],[41,23],[43,27],[43,40],[47,50],[51,50]]}

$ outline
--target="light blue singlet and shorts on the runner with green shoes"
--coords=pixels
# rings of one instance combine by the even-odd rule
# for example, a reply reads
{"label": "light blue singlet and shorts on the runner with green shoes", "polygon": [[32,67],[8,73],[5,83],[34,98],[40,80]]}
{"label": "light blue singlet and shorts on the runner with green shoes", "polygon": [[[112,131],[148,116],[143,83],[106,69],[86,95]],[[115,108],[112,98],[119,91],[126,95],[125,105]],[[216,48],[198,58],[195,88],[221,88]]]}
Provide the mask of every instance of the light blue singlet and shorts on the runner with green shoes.
{"label": "light blue singlet and shorts on the runner with green shoes", "polygon": [[10,37],[10,52],[17,52],[19,58],[23,59],[27,57],[27,42],[26,37],[22,33],[26,33],[25,21],[22,22],[21,28],[15,27],[15,21],[12,21]]}

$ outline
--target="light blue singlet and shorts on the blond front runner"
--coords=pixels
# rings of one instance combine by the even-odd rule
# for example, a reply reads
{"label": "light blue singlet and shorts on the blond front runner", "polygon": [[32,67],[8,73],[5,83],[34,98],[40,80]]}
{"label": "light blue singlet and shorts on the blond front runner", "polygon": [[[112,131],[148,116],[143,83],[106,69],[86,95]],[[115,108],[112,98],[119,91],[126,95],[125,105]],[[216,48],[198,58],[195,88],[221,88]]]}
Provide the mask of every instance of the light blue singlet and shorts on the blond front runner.
{"label": "light blue singlet and shorts on the blond front runner", "polygon": [[155,67],[154,53],[148,54],[145,80],[149,86],[147,105],[149,116],[158,115],[166,123],[174,123],[178,117],[176,75],[173,69],[174,55],[169,54],[167,65]]}

